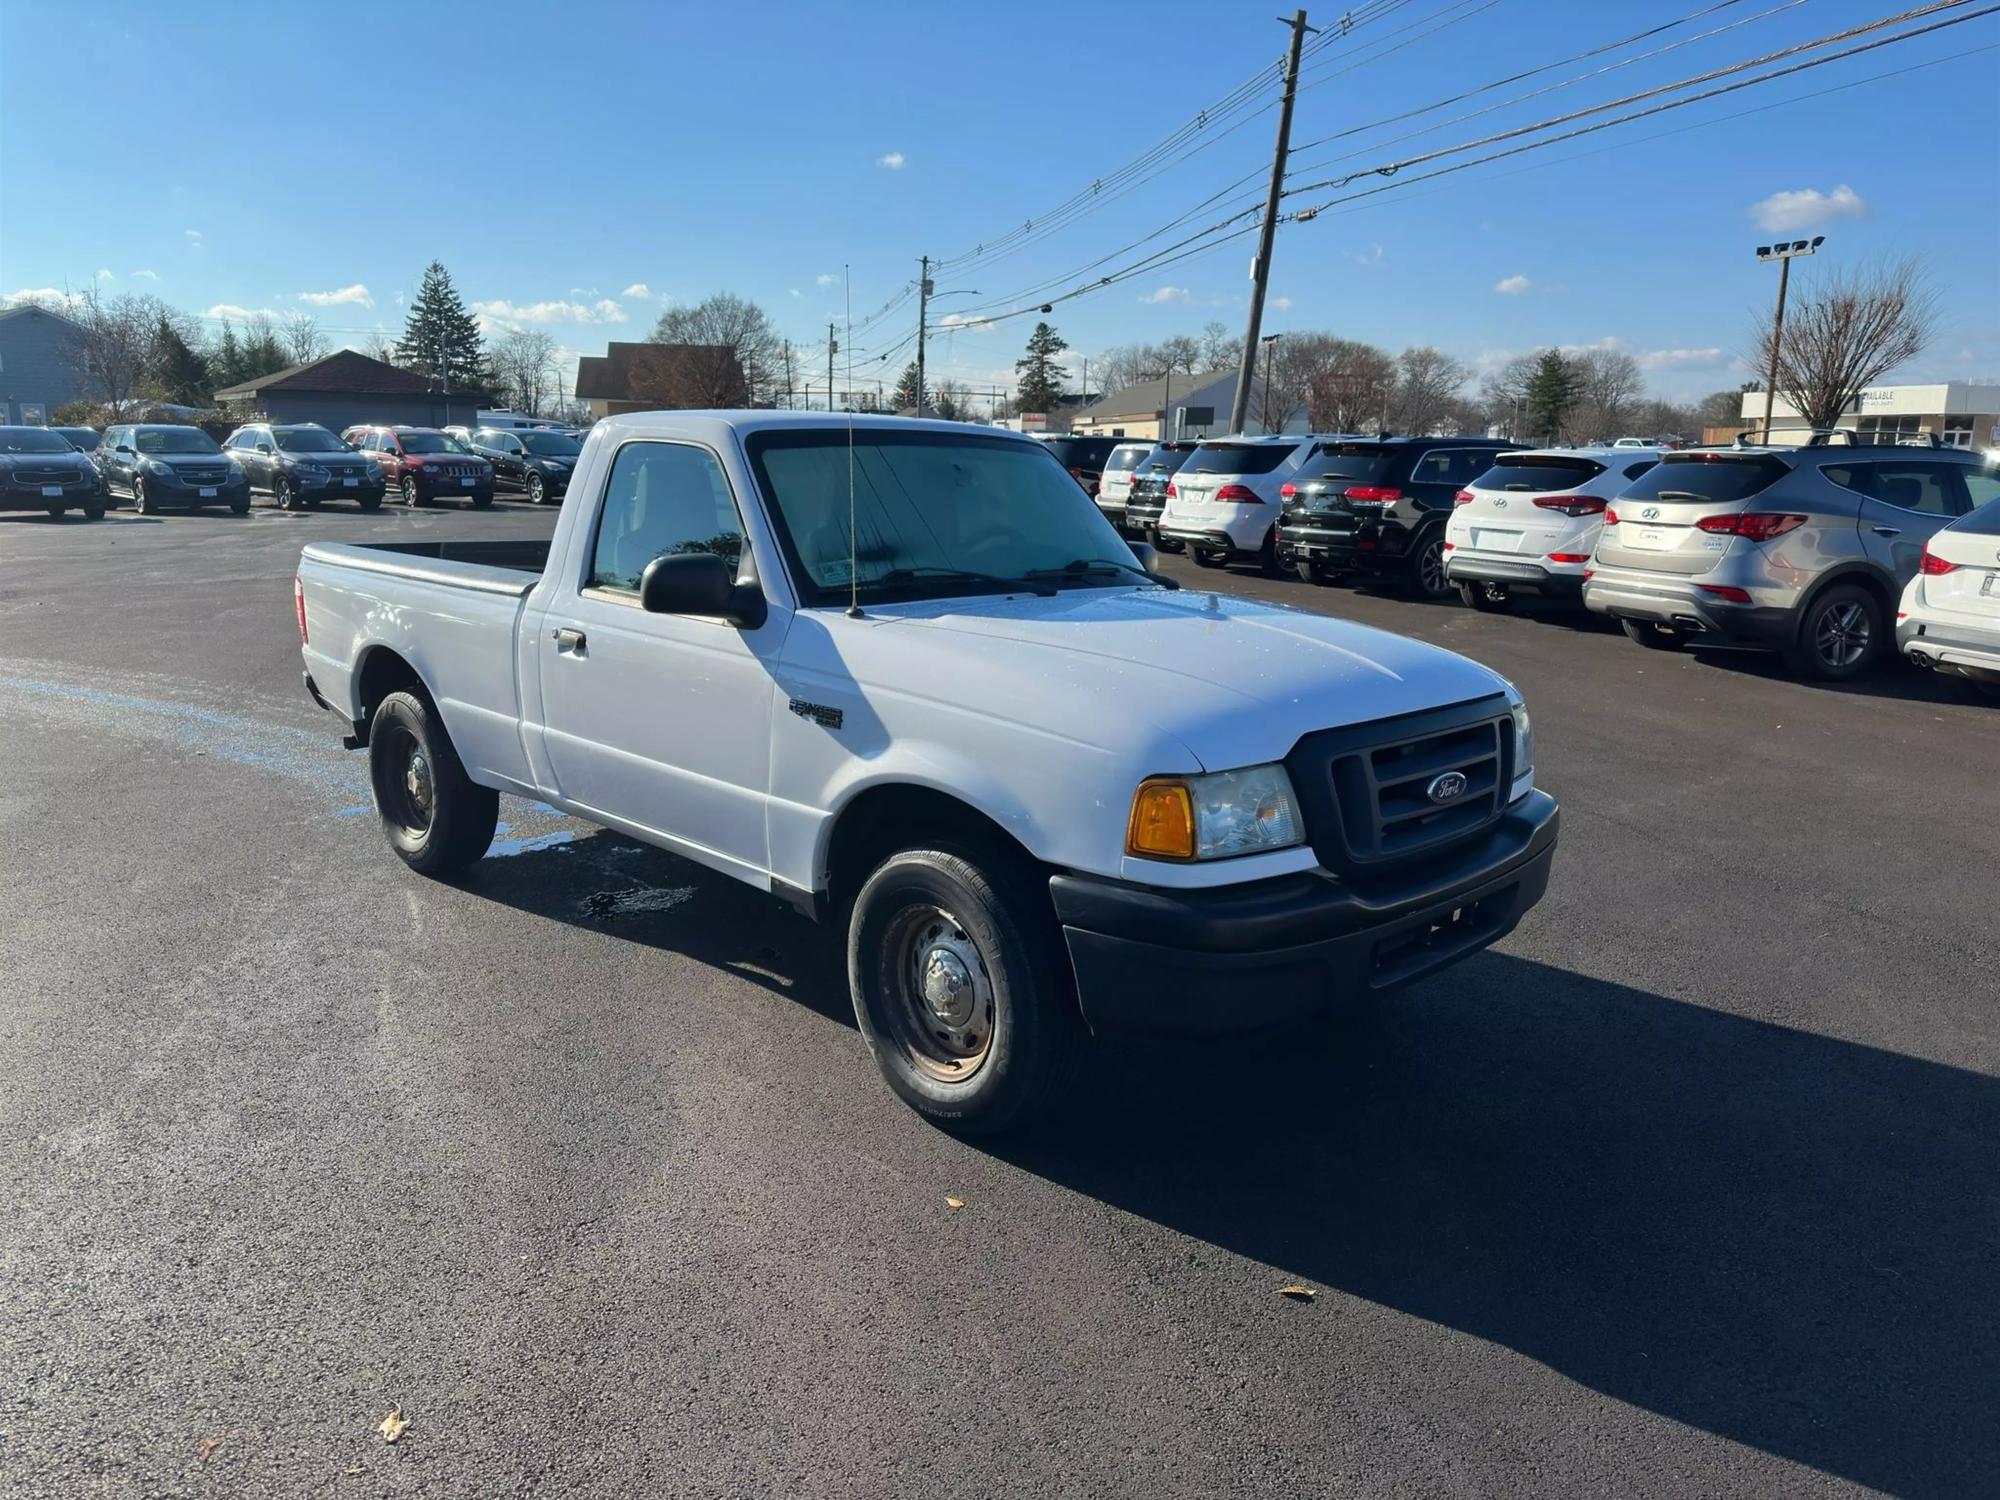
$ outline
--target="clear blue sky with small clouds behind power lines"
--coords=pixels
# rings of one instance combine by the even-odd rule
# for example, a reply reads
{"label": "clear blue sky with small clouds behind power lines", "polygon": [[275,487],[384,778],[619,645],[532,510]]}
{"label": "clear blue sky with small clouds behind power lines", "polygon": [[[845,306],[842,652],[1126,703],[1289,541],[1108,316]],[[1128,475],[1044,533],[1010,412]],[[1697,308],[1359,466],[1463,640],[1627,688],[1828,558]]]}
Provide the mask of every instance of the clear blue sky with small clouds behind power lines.
{"label": "clear blue sky with small clouds behind power lines", "polygon": [[[1742,0],[1644,44],[1374,124],[1702,4],[1412,0],[1308,58],[1294,142],[1372,128],[1300,150],[1292,180],[1374,168],[1902,8],[1800,0],[1746,20],[1782,0]],[[1046,230],[1074,192],[1274,64],[1284,28],[1270,14],[1216,0],[14,4],[0,10],[0,296],[96,282],[202,314],[306,310],[362,344],[400,328],[400,300],[438,258],[492,326],[542,328],[572,354],[642,338],[664,300],[720,288],[824,348],[828,318],[846,316],[850,266],[856,382],[882,372],[884,352],[892,380],[914,308],[872,324],[868,314],[916,274],[918,254],[960,262],[940,272],[940,292],[980,292],[940,300],[936,318],[1008,310],[1026,300],[1010,294],[1238,180],[1238,196],[1090,274],[1254,200],[1274,82],[1258,88],[1256,112],[1220,116],[1190,140],[1202,150],[1152,180],[1100,194],[1094,212],[1012,254],[962,264],[1026,220]],[[1736,20],[1746,24],[1442,124]],[[1478,368],[1544,344],[1612,342],[1662,394],[1694,396],[1742,378],[1750,310],[1774,292],[1752,246],[1824,232],[1810,272],[1924,256],[1944,320],[1908,376],[2000,380],[2000,50],[1980,48],[2000,48],[2000,16],[1286,224],[1266,330],[1440,344]],[[1724,118],[1758,106],[1774,108]],[[1390,142],[1432,124],[1442,128]],[[1352,160],[1310,170],[1342,152]],[[1078,358],[1210,318],[1240,330],[1250,250],[1248,238],[1212,246],[1064,302],[1050,320]],[[940,334],[932,370],[1010,380],[1032,322]],[[824,370],[824,354],[814,362]]]}

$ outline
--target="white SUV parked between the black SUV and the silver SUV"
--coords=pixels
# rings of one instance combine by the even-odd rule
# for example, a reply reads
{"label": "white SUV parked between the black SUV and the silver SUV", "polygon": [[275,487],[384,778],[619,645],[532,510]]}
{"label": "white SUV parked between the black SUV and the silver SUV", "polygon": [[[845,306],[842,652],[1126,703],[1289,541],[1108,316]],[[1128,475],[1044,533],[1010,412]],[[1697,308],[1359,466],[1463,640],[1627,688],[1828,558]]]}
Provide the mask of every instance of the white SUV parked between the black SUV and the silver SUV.
{"label": "white SUV parked between the black SUV and the silver SUV", "polygon": [[1662,448],[1544,448],[1500,454],[1458,492],[1444,528],[1444,576],[1474,610],[1514,590],[1578,600],[1604,506],[1660,462]]}

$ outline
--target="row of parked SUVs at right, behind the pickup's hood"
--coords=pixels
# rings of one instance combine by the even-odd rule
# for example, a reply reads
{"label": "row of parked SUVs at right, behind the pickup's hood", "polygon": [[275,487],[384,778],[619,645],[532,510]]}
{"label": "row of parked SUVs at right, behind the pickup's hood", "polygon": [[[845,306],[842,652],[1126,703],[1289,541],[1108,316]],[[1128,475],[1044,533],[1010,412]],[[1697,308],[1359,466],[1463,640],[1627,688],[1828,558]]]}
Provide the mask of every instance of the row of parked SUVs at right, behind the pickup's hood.
{"label": "row of parked SUVs at right, behind the pickup's hood", "polygon": [[1690,450],[1392,434],[1050,442],[1070,444],[1058,458],[1120,530],[1206,568],[1394,578],[1494,612],[1524,594],[1566,600],[1652,650],[1766,648],[1822,682],[1902,650],[2000,696],[2000,464],[1798,436]]}

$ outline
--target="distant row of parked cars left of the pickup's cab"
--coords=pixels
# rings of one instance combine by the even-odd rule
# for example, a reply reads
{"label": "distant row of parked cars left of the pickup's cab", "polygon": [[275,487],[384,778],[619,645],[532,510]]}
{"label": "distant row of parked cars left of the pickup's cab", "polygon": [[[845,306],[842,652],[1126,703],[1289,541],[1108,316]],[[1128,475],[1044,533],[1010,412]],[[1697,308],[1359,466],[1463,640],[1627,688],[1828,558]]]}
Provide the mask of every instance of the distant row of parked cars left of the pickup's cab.
{"label": "distant row of parked cars left of the pickup's cab", "polygon": [[280,510],[352,500],[376,510],[468,500],[490,506],[510,488],[534,504],[560,500],[582,444],[552,428],[418,428],[248,422],[220,444],[196,426],[0,428],[0,508],[70,510],[98,520],[114,504],[138,514],[218,506],[244,514],[256,494]]}

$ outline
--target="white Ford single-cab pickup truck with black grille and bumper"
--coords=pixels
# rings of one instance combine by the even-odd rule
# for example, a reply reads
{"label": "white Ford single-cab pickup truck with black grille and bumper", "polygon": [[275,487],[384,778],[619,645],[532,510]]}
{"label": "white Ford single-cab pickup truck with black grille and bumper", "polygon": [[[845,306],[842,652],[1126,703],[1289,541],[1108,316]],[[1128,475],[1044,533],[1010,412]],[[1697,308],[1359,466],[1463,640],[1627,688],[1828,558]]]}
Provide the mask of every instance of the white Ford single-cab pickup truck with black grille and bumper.
{"label": "white Ford single-cab pickup truck with black grille and bumper", "polygon": [[296,592],[404,862],[516,792],[840,920],[890,1086],[970,1132],[1094,1032],[1306,1020],[1548,886],[1504,678],[1148,564],[1032,438],[640,412],[546,548],[314,544]]}

